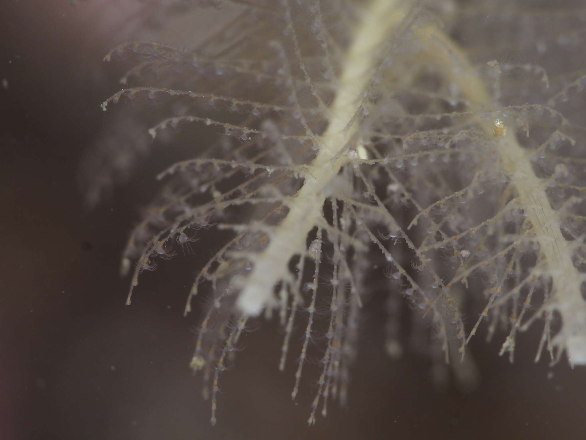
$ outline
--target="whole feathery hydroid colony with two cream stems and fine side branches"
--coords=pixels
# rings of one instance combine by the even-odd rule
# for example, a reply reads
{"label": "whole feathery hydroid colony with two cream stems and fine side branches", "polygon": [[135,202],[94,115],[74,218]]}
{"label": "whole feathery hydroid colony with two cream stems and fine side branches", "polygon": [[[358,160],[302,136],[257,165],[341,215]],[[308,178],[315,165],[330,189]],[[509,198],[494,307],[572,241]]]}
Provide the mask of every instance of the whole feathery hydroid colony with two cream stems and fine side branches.
{"label": "whole feathery hydroid colony with two cream stems and fine side branches", "polygon": [[157,103],[168,116],[148,130],[154,143],[183,136],[192,151],[161,172],[131,233],[128,304],[157,260],[213,228],[232,233],[185,307],[202,316],[191,366],[212,423],[226,363],[262,313],[284,329],[281,370],[305,329],[294,398],[319,353],[309,423],[329,398],[344,402],[360,310],[377,292],[390,354],[403,296],[445,361],[461,362],[482,324],[489,339],[505,330],[513,360],[539,320],[536,361],[586,364],[586,66],[574,56],[586,13],[472,3],[218,0],[237,18],[197,49],[128,42],[106,56],[141,63],[103,109]]}

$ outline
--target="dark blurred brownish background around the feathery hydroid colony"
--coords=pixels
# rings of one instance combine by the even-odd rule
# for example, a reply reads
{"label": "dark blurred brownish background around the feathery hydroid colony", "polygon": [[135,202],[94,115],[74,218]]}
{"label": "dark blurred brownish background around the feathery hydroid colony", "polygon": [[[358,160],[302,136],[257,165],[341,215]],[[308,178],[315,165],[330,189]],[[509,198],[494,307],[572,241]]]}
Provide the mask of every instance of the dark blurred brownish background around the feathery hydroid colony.
{"label": "dark blurred brownish background around the feathery hydroid colony", "polygon": [[278,371],[281,331],[262,323],[221,377],[212,428],[188,367],[198,317],[182,307],[197,258],[221,243],[163,264],[124,306],[119,257],[165,152],[139,158],[130,183],[93,210],[79,185],[82,155],[115,117],[100,109],[119,87],[105,52],[148,32],[180,43],[169,23],[147,26],[148,12],[132,0],[0,4],[0,439],[586,437],[585,371],[534,364],[540,329],[520,337],[515,364],[498,356],[502,339],[477,337],[478,390],[437,391],[426,358],[384,354],[376,299],[349,408],[332,403],[306,427],[316,367],[292,402],[294,365]]}

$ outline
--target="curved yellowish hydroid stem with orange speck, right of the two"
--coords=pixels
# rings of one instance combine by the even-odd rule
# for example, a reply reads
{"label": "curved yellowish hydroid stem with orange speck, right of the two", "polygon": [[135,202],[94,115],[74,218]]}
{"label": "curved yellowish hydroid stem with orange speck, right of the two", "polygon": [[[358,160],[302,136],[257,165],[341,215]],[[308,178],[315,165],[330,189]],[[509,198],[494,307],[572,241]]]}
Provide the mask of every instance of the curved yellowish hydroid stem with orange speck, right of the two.
{"label": "curved yellowish hydroid stem with orange speck, right of the two", "polygon": [[[462,95],[472,103],[472,110],[489,109],[493,106],[486,85],[475,73],[464,52],[447,35],[430,26],[419,31],[417,37],[426,40],[429,45],[424,57],[428,58],[428,62],[432,60],[437,69],[442,70],[445,76],[458,84]],[[547,268],[544,273],[551,276],[551,302],[546,303],[546,309],[542,312],[551,314],[557,310],[561,315],[563,327],[557,334],[554,344],[566,349],[570,364],[584,365],[586,302],[582,299],[580,290],[584,277],[578,273],[571,259],[571,252],[568,252],[571,242],[561,233],[560,218],[551,207],[546,194],[546,182],[536,175],[531,159],[517,141],[514,130],[508,130],[500,136],[495,134],[494,121],[487,121],[480,116],[477,116],[476,120],[487,136],[495,137],[494,153],[500,157],[501,171],[515,186],[517,202],[524,208],[527,221],[532,227],[532,234],[539,242],[540,253]],[[539,269],[534,275],[539,275]],[[540,315],[541,313],[536,313],[534,318]],[[527,321],[524,327],[532,321],[533,319]],[[478,324],[470,336],[473,336],[476,327]],[[541,343],[544,343],[544,340]]]}

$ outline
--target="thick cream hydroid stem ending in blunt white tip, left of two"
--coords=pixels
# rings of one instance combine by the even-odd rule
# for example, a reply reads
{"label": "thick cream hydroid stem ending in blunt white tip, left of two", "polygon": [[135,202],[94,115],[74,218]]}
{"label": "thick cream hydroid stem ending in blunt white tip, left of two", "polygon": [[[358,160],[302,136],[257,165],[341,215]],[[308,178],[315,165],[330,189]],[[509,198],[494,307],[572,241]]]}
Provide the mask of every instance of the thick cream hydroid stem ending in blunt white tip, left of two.
{"label": "thick cream hydroid stem ending in blunt white tip, left of two", "polygon": [[338,93],[329,109],[328,128],[315,139],[318,155],[308,166],[304,185],[288,201],[287,217],[271,233],[267,248],[252,258],[254,268],[237,302],[244,314],[260,314],[271,301],[274,285],[289,277],[289,260],[306,252],[306,236],[323,218],[328,184],[348,161],[342,153],[356,134],[359,118],[355,116],[380,62],[376,49],[404,18],[397,9],[396,0],[374,0],[364,10],[342,66]]}

